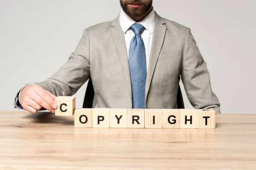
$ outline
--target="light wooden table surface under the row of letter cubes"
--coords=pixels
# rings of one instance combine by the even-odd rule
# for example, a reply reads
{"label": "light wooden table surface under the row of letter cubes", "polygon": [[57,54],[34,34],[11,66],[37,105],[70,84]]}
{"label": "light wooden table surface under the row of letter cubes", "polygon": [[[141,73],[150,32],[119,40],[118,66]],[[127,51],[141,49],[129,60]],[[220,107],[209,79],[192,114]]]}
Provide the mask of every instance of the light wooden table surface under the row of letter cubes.
{"label": "light wooden table surface under the row of letter cubes", "polygon": [[0,112],[0,169],[256,170],[256,114],[216,129],[79,129],[74,116]]}

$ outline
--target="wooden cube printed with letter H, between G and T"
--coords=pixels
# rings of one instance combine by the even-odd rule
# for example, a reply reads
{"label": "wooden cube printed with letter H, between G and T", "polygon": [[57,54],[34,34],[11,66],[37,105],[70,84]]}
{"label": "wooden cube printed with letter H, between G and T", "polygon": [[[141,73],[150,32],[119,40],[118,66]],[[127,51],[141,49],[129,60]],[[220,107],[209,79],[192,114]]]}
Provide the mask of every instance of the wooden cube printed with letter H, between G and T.
{"label": "wooden cube printed with letter H, between G and T", "polygon": [[180,110],[180,128],[197,129],[198,128],[198,111],[195,109]]}

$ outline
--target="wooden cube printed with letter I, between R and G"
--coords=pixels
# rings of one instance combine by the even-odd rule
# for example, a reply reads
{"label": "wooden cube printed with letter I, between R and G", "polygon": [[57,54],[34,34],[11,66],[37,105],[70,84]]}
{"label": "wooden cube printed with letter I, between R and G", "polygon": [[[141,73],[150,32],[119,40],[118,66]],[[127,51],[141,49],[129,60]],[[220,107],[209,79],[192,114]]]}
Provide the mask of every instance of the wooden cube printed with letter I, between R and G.
{"label": "wooden cube printed with letter I, between R and G", "polygon": [[162,110],[145,109],[145,128],[161,129],[162,128]]}

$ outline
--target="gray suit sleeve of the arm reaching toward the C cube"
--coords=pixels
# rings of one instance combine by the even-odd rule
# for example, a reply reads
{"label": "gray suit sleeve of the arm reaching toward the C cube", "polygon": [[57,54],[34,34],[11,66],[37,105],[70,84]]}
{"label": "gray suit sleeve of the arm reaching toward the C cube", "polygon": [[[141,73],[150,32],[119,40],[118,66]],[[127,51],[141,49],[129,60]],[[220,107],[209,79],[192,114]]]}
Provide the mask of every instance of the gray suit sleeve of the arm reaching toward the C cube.
{"label": "gray suit sleeve of the arm reaching toward the C cube", "polygon": [[[83,35],[75,51],[67,62],[43,82],[34,82],[56,96],[72,96],[90,77],[90,45],[89,32],[84,29]],[[19,93],[15,98],[15,108],[18,107]]]}

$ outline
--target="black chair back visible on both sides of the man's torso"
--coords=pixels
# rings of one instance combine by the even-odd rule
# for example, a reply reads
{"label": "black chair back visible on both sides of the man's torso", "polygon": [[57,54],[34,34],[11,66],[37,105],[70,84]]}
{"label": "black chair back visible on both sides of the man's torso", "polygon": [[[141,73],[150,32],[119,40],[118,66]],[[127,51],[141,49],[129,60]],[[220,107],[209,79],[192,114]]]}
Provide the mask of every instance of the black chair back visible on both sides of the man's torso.
{"label": "black chair back visible on both sides of the man's torso", "polygon": [[[97,104],[97,99],[94,94],[93,82],[92,82],[92,79],[90,78],[88,81],[85,95],[84,95],[83,108],[94,108],[96,104]],[[177,108],[178,109],[184,108],[184,102],[183,102],[180,86],[178,88],[178,93],[177,93]]]}

